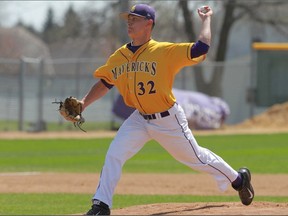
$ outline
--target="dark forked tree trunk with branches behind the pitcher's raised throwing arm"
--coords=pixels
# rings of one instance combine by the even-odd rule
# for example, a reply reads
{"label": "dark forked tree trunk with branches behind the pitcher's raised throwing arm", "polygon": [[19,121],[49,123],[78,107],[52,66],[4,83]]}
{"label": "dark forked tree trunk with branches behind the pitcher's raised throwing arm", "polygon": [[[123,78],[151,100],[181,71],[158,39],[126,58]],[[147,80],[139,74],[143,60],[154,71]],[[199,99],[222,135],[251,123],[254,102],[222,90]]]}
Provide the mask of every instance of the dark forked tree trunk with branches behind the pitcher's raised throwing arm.
{"label": "dark forked tree trunk with branches behind the pitcher's raised throwing arm", "polygon": [[[220,2],[217,2],[220,4]],[[259,23],[271,25],[278,32],[281,31],[288,35],[287,26],[288,22],[285,17],[267,16],[275,8],[288,5],[285,0],[282,1],[241,1],[241,0],[225,0],[222,1],[224,15],[219,29],[219,40],[216,42],[216,52],[214,61],[224,62],[226,60],[226,53],[228,49],[228,39],[233,25],[244,17]],[[179,0],[179,6],[182,10],[184,18],[184,28],[186,35],[190,41],[196,41],[195,26],[192,21],[192,13],[189,10],[189,1]],[[262,12],[262,13],[261,13]],[[284,13],[285,15],[285,13]],[[223,69],[215,67],[212,79],[208,82],[204,80],[202,67],[195,67],[195,80],[198,91],[207,93],[213,96],[222,96],[221,83],[223,79]]]}

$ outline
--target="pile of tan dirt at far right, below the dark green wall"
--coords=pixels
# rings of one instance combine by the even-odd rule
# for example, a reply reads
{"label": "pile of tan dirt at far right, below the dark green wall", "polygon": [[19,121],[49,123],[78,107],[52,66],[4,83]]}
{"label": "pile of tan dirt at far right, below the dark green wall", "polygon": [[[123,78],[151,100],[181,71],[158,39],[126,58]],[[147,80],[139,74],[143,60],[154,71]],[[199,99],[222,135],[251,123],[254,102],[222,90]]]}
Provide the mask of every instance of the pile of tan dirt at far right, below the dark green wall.
{"label": "pile of tan dirt at far right, below the dark green wall", "polygon": [[265,112],[255,115],[244,122],[234,125],[235,128],[279,128],[288,129],[288,102],[275,104]]}

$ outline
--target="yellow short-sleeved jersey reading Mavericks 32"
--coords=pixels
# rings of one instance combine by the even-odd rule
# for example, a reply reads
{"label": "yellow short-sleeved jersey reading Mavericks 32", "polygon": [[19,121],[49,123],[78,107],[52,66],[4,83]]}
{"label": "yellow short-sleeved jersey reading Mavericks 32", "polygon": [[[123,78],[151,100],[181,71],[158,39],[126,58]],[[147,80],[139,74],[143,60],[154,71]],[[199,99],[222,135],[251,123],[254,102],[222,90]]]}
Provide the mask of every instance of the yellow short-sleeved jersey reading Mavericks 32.
{"label": "yellow short-sleeved jersey reading Mavericks 32", "polygon": [[150,40],[133,53],[125,44],[94,72],[94,77],[116,86],[126,105],[142,114],[163,112],[176,101],[172,93],[175,75],[206,57],[191,59],[192,45]]}

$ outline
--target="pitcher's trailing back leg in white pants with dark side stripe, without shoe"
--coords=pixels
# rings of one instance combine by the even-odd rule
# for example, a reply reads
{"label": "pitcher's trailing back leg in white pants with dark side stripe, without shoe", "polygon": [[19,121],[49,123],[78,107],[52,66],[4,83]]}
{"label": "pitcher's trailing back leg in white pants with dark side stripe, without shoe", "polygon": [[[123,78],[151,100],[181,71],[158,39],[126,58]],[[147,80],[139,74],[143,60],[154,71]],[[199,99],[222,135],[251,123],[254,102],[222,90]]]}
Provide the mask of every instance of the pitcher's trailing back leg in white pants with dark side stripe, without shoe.
{"label": "pitcher's trailing back leg in white pants with dark side stripe, without shoe", "polygon": [[217,154],[198,145],[180,106],[175,114],[150,125],[156,139],[175,159],[194,170],[211,174],[221,190],[231,184],[238,173]]}

